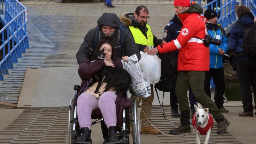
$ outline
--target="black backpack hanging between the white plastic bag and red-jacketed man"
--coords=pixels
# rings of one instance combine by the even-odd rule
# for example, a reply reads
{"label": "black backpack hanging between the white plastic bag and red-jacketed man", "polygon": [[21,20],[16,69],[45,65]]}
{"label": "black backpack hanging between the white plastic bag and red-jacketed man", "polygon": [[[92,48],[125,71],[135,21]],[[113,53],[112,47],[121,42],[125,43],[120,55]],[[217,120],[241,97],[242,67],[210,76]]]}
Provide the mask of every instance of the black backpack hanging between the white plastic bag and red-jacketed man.
{"label": "black backpack hanging between the white plastic bag and red-jacketed man", "polygon": [[169,92],[175,89],[177,80],[177,63],[178,60],[174,56],[177,52],[169,52],[159,54],[161,59],[161,77],[159,83],[155,84],[155,87],[164,92]]}

